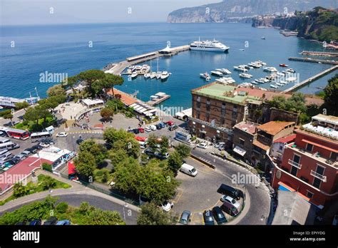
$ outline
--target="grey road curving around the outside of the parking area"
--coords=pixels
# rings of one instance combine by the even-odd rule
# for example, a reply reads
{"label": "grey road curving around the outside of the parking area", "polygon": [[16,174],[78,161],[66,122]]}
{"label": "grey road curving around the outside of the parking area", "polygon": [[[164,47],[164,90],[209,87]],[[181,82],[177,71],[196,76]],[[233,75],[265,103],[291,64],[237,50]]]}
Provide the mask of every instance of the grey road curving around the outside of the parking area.
{"label": "grey road curving around the outside of the parking area", "polygon": [[[238,172],[241,175],[253,175],[240,165],[214,157],[209,153],[205,153],[205,150],[200,148],[192,150],[192,154],[215,165],[216,172],[220,172],[224,177],[227,177],[227,181],[230,180],[232,175],[237,175]],[[242,186],[243,185],[239,185],[239,188]],[[239,221],[235,220],[232,224],[266,224],[267,217],[270,213],[269,190],[262,183],[260,183],[258,187],[256,187],[255,184],[247,183],[245,184],[245,192],[246,195],[250,197],[250,206],[248,208],[246,207],[246,210],[242,212],[241,215],[243,215],[243,217],[239,218]]]}

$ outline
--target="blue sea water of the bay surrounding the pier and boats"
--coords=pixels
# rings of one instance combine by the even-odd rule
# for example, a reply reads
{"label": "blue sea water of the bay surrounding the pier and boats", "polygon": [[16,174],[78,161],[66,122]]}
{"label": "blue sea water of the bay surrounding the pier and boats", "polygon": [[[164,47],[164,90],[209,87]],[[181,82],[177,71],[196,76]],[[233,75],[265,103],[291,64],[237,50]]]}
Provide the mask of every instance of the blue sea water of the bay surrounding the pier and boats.
{"label": "blue sea water of the bay surrounding the pier and boats", "polygon": [[[73,76],[84,70],[101,69],[108,63],[123,61],[128,56],[165,48],[167,41],[170,41],[171,46],[182,46],[198,40],[199,36],[201,39],[216,38],[225,43],[230,46],[229,53],[186,51],[171,58],[160,58],[159,70],[173,73],[168,81],[150,81],[140,76],[128,81],[126,77],[125,83],[119,88],[128,93],[139,91],[138,98],[142,100],[149,100],[150,95],[162,91],[171,95],[163,105],[189,108],[190,90],[206,83],[199,74],[205,71],[210,73],[215,68],[229,68],[237,83],[252,80],[242,80],[239,73],[233,71],[233,66],[259,59],[276,68],[280,63],[287,63],[299,73],[301,81],[329,68],[326,64],[287,59],[299,56],[298,53],[303,50],[322,51],[320,44],[297,37],[287,38],[275,29],[255,29],[250,24],[1,26],[0,95],[27,98],[29,92],[35,94],[36,87],[39,95],[45,96],[46,90],[53,84],[40,83],[40,73],[48,71]],[[262,36],[266,39],[262,40]],[[11,47],[12,41],[14,47]],[[93,46],[88,46],[89,43],[93,43]],[[153,61],[152,66],[153,71],[156,71],[156,61]],[[262,69],[253,69],[249,73],[254,78],[267,76]],[[332,76],[333,73],[299,91],[315,93]],[[270,88],[270,83],[264,86]]]}

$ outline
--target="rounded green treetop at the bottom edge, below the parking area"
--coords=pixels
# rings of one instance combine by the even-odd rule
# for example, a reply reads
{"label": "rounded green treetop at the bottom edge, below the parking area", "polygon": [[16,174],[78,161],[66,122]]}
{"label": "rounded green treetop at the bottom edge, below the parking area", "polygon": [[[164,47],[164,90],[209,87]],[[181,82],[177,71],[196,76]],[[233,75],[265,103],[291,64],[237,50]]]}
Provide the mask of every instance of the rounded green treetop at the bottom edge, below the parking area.
{"label": "rounded green treetop at the bottom edge, below the parking area", "polygon": [[160,208],[153,203],[145,203],[145,205],[141,207],[137,222],[138,224],[143,225],[164,225],[173,223],[170,215],[160,210]]}

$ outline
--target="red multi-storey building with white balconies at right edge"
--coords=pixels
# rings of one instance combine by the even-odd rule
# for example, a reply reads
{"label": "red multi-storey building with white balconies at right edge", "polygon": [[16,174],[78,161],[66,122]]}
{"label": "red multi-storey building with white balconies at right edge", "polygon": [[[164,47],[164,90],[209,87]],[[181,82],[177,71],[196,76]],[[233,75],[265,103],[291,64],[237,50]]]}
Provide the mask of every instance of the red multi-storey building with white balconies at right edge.
{"label": "red multi-storey building with white balconies at right edge", "polygon": [[338,200],[338,117],[316,115],[295,134],[275,166],[272,187],[282,182],[319,207]]}

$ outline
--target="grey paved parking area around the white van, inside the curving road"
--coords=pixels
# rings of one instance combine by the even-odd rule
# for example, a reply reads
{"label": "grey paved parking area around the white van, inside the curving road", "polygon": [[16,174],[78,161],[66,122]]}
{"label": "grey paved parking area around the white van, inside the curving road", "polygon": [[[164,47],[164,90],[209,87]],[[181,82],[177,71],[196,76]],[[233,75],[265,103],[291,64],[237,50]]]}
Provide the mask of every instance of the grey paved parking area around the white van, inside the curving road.
{"label": "grey paved parking area around the white van, inside the curving road", "polygon": [[[204,224],[203,212],[211,210],[212,207],[221,206],[220,197],[217,189],[222,183],[232,185],[230,178],[225,177],[198,160],[188,157],[185,160],[189,165],[193,165],[198,170],[196,177],[190,177],[182,172],[178,172],[177,180],[181,182],[178,187],[178,194],[173,200],[173,211],[180,216],[184,210],[191,212],[191,224]],[[242,205],[242,199],[239,201]],[[226,219],[230,215],[226,213]]]}

